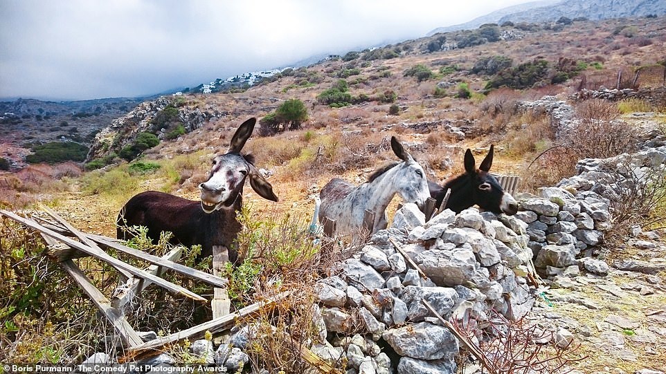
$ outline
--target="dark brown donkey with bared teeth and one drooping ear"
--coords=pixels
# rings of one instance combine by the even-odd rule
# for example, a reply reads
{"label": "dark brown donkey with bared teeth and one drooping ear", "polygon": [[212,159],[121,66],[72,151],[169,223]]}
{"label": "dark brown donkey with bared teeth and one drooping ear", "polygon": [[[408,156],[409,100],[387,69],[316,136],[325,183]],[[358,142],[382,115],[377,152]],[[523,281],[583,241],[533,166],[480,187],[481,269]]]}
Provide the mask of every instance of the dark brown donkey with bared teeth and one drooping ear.
{"label": "dark brown donkey with bared teeth and one drooping ear", "polygon": [[242,207],[245,180],[249,178],[262,198],[278,201],[271,184],[253,165],[253,157],[240,153],[256,122],[256,118],[243,122],[231,138],[229,150],[213,159],[208,180],[199,185],[201,201],[158,191],[137,194],[118,214],[118,239],[131,236],[123,226],[141,225],[147,227],[153,243],[159,241],[161,232],[169,231],[174,234],[173,243],[201,245],[199,259],[212,255],[213,245],[222,245],[235,263],[237,252],[232,243],[242,229],[236,212]]}

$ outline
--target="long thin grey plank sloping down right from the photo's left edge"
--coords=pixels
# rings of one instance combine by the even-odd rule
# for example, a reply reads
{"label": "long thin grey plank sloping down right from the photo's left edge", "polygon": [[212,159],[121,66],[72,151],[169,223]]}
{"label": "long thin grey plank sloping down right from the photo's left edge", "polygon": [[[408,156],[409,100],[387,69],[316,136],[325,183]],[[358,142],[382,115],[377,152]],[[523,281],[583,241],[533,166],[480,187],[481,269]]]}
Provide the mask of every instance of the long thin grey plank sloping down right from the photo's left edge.
{"label": "long thin grey plank sloping down right from the photo's left edge", "polygon": [[203,297],[199,296],[198,294],[195,294],[194,292],[183,288],[181,286],[178,286],[174,283],[171,283],[169,281],[165,281],[164,279],[161,279],[160,277],[156,277],[153,274],[149,274],[145,272],[144,270],[135,268],[132,265],[129,265],[127,263],[124,263],[123,261],[120,261],[118,259],[115,259],[114,257],[109,256],[106,252],[102,250],[96,250],[95,248],[89,247],[87,245],[84,245],[83,243],[80,243],[78,241],[74,241],[72,239],[69,239],[66,236],[63,236],[62,234],[58,234],[57,232],[53,232],[52,230],[48,230],[46,227],[43,227],[42,225],[39,225],[38,223],[35,223],[34,221],[30,221],[26,218],[23,218],[21,216],[17,216],[16,214],[12,212],[8,212],[4,209],[0,209],[0,215],[6,216],[8,218],[12,218],[14,221],[17,221],[19,223],[22,223],[34,230],[37,230],[39,232],[42,232],[43,234],[46,234],[48,236],[51,236],[53,239],[57,239],[58,241],[62,241],[62,243],[65,243],[66,245],[69,245],[70,247],[73,247],[77,250],[80,250],[82,252],[86,252],[87,254],[90,254],[91,256],[96,257],[97,259],[100,259],[102,261],[105,261],[109,263],[110,265],[113,265],[114,268],[122,268],[123,270],[127,270],[127,272],[131,273],[132,275],[136,275],[137,277],[141,277],[144,279],[149,279],[153,283],[165,288],[166,290],[170,290],[171,292],[175,292],[178,294],[183,294],[186,297],[189,297],[190,299],[194,299],[197,301],[206,301]]}

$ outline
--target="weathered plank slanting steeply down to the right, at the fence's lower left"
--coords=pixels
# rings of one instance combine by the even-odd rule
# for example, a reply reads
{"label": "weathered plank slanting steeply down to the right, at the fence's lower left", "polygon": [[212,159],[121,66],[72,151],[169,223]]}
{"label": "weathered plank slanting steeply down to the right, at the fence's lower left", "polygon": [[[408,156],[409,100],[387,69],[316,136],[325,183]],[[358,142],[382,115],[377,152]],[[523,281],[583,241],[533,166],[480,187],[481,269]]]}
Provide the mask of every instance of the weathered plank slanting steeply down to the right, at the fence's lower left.
{"label": "weathered plank slanting steeply down to the right, at the fence's lower left", "polygon": [[72,260],[62,261],[60,263],[62,268],[71,275],[76,283],[83,289],[83,291],[90,297],[95,305],[102,311],[107,320],[114,326],[114,330],[120,337],[120,340],[130,348],[143,344],[143,340],[138,336],[134,328],[129,325],[125,316],[118,311],[118,309],[111,306],[109,299],[107,299],[100,290],[98,290],[93,283],[86,277],[86,274],[74,263]]}

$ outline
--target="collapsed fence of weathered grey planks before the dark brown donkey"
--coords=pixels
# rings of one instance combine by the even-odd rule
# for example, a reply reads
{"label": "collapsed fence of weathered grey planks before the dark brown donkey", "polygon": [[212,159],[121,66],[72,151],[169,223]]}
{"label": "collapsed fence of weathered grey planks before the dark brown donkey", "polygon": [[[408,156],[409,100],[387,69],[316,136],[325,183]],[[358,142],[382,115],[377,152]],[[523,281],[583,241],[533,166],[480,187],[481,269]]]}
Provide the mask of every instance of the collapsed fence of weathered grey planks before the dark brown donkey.
{"label": "collapsed fence of weathered grey planks before the dark brown donkey", "polygon": [[[208,274],[174,262],[179,259],[181,249],[174,249],[163,257],[147,254],[140,250],[127,247],[116,241],[116,239],[80,232],[67,223],[62,217],[53,212],[53,210],[48,207],[42,208],[55,220],[55,222],[46,221],[37,217],[25,218],[1,209],[0,216],[5,216],[17,221],[42,235],[49,247],[48,255],[51,259],[57,261],[57,263],[70,274],[75,283],[77,283],[83,292],[90,297],[100,312],[102,312],[102,315],[104,315],[107,321],[109,321],[109,324],[113,326],[114,332],[123,344],[123,348],[125,348],[125,355],[120,358],[121,362],[158,355],[168,344],[174,344],[183,339],[203,337],[206,331],[210,331],[214,334],[222,333],[233,327],[237,319],[256,315],[260,310],[272,308],[276,302],[285,299],[291,293],[282,292],[272,299],[253,303],[237,312],[231,313],[231,303],[228,301],[228,294],[226,293],[228,281],[219,277],[219,270],[224,266],[223,261],[228,259],[226,248],[218,247],[215,250],[216,256],[214,256],[213,259],[213,270],[216,274]],[[38,221],[42,223],[39,223]],[[77,238],[79,241],[75,241],[73,237]],[[148,263],[151,263],[151,265],[146,270],[136,268],[133,265],[129,265],[120,259],[110,256],[105,252],[105,248],[111,248],[136,259],[147,261]],[[73,259],[83,256],[93,256],[100,261],[104,261],[114,269],[118,270],[122,275],[121,278],[127,279],[124,285],[116,288],[113,297],[109,298],[105,296],[105,294],[93,284],[84,271],[79,268],[75,261],[73,261]],[[220,261],[222,261],[222,263],[220,263]],[[219,290],[214,291],[215,296],[213,297],[213,300],[210,301],[213,308],[213,319],[172,335],[159,337],[149,342],[143,342],[138,333],[136,333],[136,330],[130,326],[125,318],[123,306],[125,306],[125,304],[127,304],[127,302],[133,297],[138,297],[150,284],[155,284],[170,292],[182,294],[201,303],[208,302],[207,299],[195,292],[159,277],[167,270],[179,272],[180,274],[184,274],[199,281],[204,281],[212,285],[215,290]],[[322,373],[335,372],[334,368],[316,357],[316,355],[312,354],[307,348],[304,347],[301,354],[303,359],[313,364]]]}

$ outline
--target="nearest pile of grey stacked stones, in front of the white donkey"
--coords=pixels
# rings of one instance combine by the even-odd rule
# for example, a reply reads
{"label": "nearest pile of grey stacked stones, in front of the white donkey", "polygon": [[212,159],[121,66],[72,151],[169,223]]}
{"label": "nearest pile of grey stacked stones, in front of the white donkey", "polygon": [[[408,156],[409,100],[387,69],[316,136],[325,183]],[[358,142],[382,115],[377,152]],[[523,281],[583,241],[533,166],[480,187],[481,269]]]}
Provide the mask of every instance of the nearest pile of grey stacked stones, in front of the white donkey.
{"label": "nearest pile of grey stacked stones, in front of the white donkey", "polygon": [[[446,319],[469,313],[484,320],[489,307],[512,319],[524,315],[534,302],[525,281],[532,260],[527,226],[476,208],[458,215],[446,210],[424,223],[416,205],[405,205],[390,229],[318,283],[327,339],[314,353],[347,362],[350,374],[393,373],[392,367],[399,374],[455,373],[458,341],[422,300]],[[359,331],[365,334],[354,335]],[[386,345],[399,356],[393,365],[377,349]]]}

